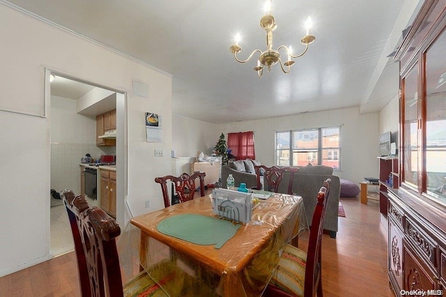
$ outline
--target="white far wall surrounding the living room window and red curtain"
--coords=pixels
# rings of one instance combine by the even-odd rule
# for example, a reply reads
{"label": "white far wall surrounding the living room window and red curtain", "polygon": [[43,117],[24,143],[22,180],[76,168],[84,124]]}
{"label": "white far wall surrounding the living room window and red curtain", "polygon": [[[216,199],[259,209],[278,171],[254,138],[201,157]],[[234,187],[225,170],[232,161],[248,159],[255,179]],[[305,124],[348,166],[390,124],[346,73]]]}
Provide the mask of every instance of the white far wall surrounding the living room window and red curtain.
{"label": "white far wall surrounding the living room window and red curtain", "polygon": [[274,165],[275,131],[341,126],[341,170],[334,175],[353,182],[378,176],[378,113],[359,114],[358,107],[300,113],[222,125],[222,132],[254,131],[256,159]]}

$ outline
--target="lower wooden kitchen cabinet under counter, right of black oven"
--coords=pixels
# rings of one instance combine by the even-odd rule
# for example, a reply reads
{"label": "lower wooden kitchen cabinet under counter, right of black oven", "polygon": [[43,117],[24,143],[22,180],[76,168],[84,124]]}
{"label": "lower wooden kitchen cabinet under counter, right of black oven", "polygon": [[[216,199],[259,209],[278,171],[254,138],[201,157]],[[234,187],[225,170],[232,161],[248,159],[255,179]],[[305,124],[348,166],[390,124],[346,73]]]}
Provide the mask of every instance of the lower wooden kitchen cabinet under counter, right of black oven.
{"label": "lower wooden kitchen cabinet under counter, right of black oven", "polygon": [[116,171],[100,169],[100,207],[116,218]]}

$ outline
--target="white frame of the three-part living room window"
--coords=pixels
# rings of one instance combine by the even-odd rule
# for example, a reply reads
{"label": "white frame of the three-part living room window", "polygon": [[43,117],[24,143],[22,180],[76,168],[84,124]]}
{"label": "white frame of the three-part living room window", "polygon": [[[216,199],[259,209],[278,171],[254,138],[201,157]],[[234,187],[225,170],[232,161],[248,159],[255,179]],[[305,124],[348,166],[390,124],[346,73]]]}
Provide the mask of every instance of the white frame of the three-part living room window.
{"label": "white frame of the three-part living room window", "polygon": [[[338,129],[339,130],[339,147],[323,147],[323,131],[325,130],[325,129]],[[299,132],[308,132],[308,131],[317,131],[317,133],[318,133],[318,141],[317,141],[317,150],[314,150],[314,149],[308,149],[308,150],[297,150],[295,147],[294,147],[294,142],[295,142],[295,139],[294,139],[294,134],[296,134],[296,135],[298,135],[298,133]],[[278,143],[277,143],[277,134],[288,134],[288,136],[289,136],[289,148],[288,149],[283,149],[283,148],[278,148],[277,147],[277,145],[278,145]],[[317,153],[317,155],[318,155],[318,157],[317,157],[317,161],[318,161],[318,165],[322,165],[322,163],[323,163],[323,152],[324,151],[331,151],[332,152],[332,154],[334,155],[334,151],[335,150],[337,150],[338,151],[338,153],[337,153],[337,159],[330,159],[330,158],[328,158],[328,156],[327,156],[327,158],[325,158],[325,159],[327,159],[327,160],[337,160],[338,162],[339,162],[339,168],[333,168],[333,170],[337,170],[337,171],[340,171],[340,170],[342,170],[342,166],[341,166],[341,160],[342,160],[342,158],[341,158],[341,156],[342,156],[342,143],[341,143],[341,139],[342,139],[342,129],[341,129],[341,125],[339,125],[339,126],[332,126],[332,127],[319,127],[319,128],[307,128],[307,129],[291,129],[291,130],[277,130],[277,131],[275,131],[275,148],[274,148],[274,154],[275,154],[275,156],[274,156],[274,162],[275,162],[275,166],[282,166],[282,164],[280,164],[280,163],[283,163],[283,161],[282,162],[279,162],[279,154],[278,154],[278,152],[280,152],[280,151],[287,151],[288,150],[288,154],[289,154],[289,164],[287,165],[287,166],[293,166],[292,164],[293,164],[293,156],[294,156],[294,152],[296,151],[299,151],[299,152],[312,152],[312,153],[314,153],[314,152],[316,152]]]}

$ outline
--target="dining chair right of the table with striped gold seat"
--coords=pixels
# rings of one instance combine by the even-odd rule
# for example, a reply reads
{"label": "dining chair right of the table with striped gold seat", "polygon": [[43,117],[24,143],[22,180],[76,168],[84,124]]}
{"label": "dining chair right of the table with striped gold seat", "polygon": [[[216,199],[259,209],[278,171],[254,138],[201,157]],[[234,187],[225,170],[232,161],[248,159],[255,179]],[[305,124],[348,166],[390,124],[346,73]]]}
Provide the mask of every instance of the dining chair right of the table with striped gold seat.
{"label": "dining chair right of the table with striped gold seat", "polygon": [[286,244],[279,264],[263,296],[323,296],[321,280],[321,243],[323,220],[330,193],[327,179],[318,193],[316,209],[309,230],[307,252]]}

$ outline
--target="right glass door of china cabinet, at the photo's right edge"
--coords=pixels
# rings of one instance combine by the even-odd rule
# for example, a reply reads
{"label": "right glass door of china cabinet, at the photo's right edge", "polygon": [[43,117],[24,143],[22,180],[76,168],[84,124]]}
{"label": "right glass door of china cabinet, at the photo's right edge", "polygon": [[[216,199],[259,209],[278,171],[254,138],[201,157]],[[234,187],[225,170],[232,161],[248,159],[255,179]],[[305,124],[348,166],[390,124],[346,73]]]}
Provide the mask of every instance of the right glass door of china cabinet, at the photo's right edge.
{"label": "right glass door of china cabinet, at the photo's right edge", "polygon": [[446,31],[426,53],[426,191],[446,202]]}

